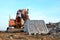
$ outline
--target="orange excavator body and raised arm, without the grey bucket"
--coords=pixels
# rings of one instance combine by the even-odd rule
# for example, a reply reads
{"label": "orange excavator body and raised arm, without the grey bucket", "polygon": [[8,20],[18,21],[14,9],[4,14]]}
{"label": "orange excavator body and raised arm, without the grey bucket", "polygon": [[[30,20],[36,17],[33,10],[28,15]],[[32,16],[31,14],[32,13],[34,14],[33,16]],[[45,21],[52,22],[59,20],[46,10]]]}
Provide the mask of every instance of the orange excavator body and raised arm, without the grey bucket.
{"label": "orange excavator body and raised arm, without the grey bucket", "polygon": [[[17,29],[24,28],[26,20],[30,20],[28,9],[19,9],[16,14],[16,19],[9,20],[9,27],[14,27]],[[9,29],[9,27],[7,29]]]}

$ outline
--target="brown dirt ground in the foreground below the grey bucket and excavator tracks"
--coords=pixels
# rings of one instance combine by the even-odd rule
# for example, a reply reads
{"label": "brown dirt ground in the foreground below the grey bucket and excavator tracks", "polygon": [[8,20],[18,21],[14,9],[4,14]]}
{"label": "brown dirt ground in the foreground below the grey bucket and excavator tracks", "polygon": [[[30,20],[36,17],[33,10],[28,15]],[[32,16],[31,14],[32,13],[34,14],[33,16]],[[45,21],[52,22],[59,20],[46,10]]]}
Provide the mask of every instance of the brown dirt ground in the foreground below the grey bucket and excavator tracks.
{"label": "brown dirt ground in the foreground below the grey bucket and excavator tracks", "polygon": [[23,32],[0,32],[0,40],[60,40],[60,33],[51,35],[27,35]]}

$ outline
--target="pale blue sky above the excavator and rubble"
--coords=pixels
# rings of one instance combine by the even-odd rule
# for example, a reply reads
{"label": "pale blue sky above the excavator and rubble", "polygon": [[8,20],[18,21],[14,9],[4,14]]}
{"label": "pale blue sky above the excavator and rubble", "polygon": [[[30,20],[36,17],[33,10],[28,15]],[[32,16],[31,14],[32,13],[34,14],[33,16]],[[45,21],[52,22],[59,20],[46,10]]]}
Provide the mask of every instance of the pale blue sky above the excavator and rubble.
{"label": "pale blue sky above the excavator and rubble", "polygon": [[60,0],[0,0],[0,30],[8,27],[9,15],[15,19],[17,10],[25,8],[30,20],[60,22]]}

